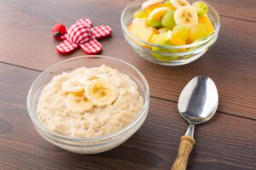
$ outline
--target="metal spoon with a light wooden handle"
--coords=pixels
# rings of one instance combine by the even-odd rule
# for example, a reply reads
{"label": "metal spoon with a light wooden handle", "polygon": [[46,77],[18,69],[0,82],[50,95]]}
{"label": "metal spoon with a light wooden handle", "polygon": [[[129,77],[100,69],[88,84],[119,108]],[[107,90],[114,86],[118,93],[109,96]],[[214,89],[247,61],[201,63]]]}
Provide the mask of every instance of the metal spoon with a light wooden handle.
{"label": "metal spoon with a light wooden handle", "polygon": [[195,144],[195,125],[209,121],[218,107],[218,91],[209,77],[195,77],[183,88],[178,99],[178,111],[189,122],[189,128],[181,137],[177,158],[172,170],[185,170],[189,154]]}

